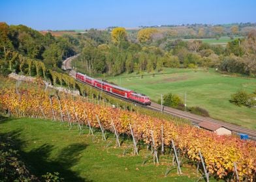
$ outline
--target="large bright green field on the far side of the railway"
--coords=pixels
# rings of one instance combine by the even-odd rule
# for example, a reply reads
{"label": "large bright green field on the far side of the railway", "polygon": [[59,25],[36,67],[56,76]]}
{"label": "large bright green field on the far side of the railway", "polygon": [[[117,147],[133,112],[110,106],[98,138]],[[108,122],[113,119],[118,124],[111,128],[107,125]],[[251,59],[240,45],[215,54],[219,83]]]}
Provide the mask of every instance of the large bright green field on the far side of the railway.
{"label": "large bright green field on the far side of the railway", "polygon": [[136,92],[150,96],[153,101],[161,94],[172,92],[183,100],[187,95],[187,106],[199,106],[208,110],[212,118],[236,125],[256,129],[256,109],[238,107],[229,102],[231,94],[240,89],[252,93],[256,89],[256,79],[221,75],[214,70],[206,72],[198,69],[165,68],[163,74],[145,73],[141,79],[135,73],[108,77],[107,81],[116,83]]}

